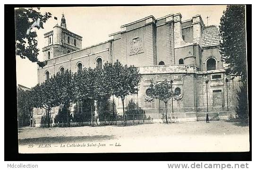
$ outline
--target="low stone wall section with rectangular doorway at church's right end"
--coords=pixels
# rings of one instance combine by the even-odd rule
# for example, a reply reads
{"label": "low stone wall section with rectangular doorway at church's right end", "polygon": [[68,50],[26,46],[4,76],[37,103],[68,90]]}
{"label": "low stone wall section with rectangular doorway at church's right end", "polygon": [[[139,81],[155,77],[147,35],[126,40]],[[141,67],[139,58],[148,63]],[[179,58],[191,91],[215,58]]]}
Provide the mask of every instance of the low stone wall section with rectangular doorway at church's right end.
{"label": "low stone wall section with rectangular doorway at church's right end", "polygon": [[[221,78],[213,78],[220,75]],[[236,89],[239,88],[237,81],[230,80],[228,84],[225,81],[224,72],[214,72],[208,74],[196,74],[196,111],[207,112],[207,97],[208,111],[229,111],[235,110],[236,105]],[[207,87],[205,80],[209,80]],[[228,87],[228,89],[227,89]],[[228,92],[228,93],[227,93]],[[215,94],[214,94],[215,93]],[[227,97],[228,96],[228,97]],[[228,104],[227,104],[228,98]]]}

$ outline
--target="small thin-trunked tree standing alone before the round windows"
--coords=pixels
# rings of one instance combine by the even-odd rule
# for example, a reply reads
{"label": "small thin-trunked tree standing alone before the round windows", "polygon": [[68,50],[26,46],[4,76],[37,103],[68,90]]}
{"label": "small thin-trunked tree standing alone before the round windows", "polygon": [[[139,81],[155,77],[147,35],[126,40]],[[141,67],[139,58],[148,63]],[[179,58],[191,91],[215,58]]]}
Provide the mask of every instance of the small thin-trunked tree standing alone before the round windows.
{"label": "small thin-trunked tree standing alone before the round windows", "polygon": [[[172,81],[164,80],[161,83],[154,83],[151,80],[148,95],[152,98],[159,99],[165,104],[165,119],[168,124],[167,119],[167,102],[175,95],[172,91]],[[173,109],[173,108],[172,108]]]}

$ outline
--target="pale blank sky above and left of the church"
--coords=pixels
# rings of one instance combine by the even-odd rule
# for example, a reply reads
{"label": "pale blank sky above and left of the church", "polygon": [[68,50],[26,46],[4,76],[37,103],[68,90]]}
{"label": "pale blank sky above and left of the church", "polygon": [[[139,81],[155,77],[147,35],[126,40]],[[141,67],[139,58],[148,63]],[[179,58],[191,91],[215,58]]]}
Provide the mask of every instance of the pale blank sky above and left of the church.
{"label": "pale blank sky above and left of the church", "polygon": [[[219,25],[226,5],[215,6],[140,6],[140,7],[52,7],[40,8],[41,13],[50,12],[52,17],[44,23],[44,29],[36,30],[38,59],[42,61],[44,47],[43,34],[60,25],[62,13],[65,15],[67,28],[83,37],[82,48],[98,44],[109,39],[109,34],[120,31],[120,26],[153,15],[156,19],[169,14],[180,13],[182,21],[201,15],[205,25]],[[54,20],[54,16],[58,20]],[[16,57],[17,84],[33,87],[37,84],[37,64],[27,59]]]}

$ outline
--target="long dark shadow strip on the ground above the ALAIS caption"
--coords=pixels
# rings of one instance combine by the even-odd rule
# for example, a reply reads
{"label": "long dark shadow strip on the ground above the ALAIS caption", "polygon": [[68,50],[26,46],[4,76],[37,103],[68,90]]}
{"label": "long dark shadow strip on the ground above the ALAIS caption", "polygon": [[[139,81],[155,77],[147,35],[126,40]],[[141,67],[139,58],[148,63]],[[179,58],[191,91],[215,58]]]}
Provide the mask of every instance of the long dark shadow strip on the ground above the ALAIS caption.
{"label": "long dark shadow strip on the ground above the ALAIS caption", "polygon": [[88,141],[102,141],[116,139],[113,135],[94,135],[94,136],[57,136],[19,139],[19,145],[28,144],[53,144],[53,143],[75,143]]}

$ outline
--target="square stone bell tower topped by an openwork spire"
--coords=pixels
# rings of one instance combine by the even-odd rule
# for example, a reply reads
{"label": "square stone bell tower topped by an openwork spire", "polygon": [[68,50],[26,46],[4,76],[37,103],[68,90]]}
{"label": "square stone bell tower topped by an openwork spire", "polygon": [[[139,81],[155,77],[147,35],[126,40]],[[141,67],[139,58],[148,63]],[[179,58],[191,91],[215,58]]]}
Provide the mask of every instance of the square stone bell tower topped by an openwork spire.
{"label": "square stone bell tower topped by an openwork spire", "polygon": [[62,14],[60,25],[57,23],[52,31],[44,34],[43,59],[51,60],[82,48],[82,37],[68,31],[66,19]]}

